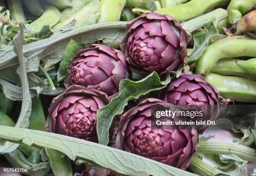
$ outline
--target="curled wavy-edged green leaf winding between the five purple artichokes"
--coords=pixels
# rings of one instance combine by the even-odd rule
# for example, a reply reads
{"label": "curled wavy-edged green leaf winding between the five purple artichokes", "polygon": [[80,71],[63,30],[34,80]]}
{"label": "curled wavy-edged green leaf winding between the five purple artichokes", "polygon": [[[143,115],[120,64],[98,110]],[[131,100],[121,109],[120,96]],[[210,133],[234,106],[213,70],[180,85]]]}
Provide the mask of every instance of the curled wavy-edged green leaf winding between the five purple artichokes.
{"label": "curled wavy-edged green leaf winding between the five purple artichokes", "polygon": [[120,94],[113,98],[111,102],[97,111],[97,134],[99,143],[108,144],[108,130],[111,126],[113,118],[122,114],[123,109],[129,100],[137,99],[149,92],[160,90],[168,83],[171,78],[168,75],[166,80],[161,82],[156,72],[151,73],[146,78],[139,81],[131,81],[128,79],[121,80],[119,85]]}

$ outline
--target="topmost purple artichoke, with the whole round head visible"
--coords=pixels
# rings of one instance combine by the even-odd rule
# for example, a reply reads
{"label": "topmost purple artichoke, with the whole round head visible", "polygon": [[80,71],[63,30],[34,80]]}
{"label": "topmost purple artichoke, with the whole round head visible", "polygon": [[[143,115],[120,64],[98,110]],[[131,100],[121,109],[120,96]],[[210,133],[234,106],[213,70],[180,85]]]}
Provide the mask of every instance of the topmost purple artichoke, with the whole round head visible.
{"label": "topmost purple artichoke, with the whole round head visible", "polygon": [[126,30],[120,48],[140,73],[163,75],[184,63],[189,36],[171,16],[147,13],[128,23]]}

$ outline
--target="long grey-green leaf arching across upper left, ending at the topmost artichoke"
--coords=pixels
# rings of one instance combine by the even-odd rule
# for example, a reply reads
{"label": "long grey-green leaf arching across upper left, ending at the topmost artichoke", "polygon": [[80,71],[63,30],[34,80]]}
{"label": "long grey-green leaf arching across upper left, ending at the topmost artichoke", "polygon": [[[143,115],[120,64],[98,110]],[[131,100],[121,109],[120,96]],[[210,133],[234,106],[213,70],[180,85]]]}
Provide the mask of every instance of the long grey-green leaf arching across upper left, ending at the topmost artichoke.
{"label": "long grey-green leaf arching across upper left, ending at the topmost artichoke", "polygon": [[[95,41],[103,40],[103,43],[117,45],[123,38],[126,23],[113,22],[85,26],[24,45],[23,55],[27,58],[27,71],[38,71],[39,61],[42,58],[56,59],[61,57],[70,38],[79,41],[84,40],[81,41],[84,44],[91,44]],[[95,36],[89,36],[92,33]],[[15,60],[16,56],[13,52],[13,46],[0,46],[0,69],[18,64],[17,60]]]}

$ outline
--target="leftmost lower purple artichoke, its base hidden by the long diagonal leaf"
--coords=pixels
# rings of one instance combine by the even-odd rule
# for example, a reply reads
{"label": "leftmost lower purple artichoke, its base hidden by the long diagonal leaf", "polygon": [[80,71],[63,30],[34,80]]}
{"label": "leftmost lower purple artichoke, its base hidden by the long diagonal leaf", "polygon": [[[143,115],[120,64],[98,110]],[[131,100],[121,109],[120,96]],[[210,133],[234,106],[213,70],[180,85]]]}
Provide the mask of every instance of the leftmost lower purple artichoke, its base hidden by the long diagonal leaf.
{"label": "leftmost lower purple artichoke, its base hidden by the long diagonal leaf", "polygon": [[53,99],[46,131],[97,142],[97,110],[108,103],[105,93],[72,85]]}

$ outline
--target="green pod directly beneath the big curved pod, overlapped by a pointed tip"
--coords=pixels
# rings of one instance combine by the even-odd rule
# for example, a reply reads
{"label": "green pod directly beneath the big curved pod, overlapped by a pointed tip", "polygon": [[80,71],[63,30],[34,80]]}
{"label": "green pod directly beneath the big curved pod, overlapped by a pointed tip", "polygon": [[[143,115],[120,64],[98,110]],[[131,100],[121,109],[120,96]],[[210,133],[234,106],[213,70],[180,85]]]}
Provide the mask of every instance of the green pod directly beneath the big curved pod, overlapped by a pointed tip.
{"label": "green pod directly beneath the big curved pod, overlapped by a pointed tip", "polygon": [[233,58],[224,58],[220,59],[215,66],[212,68],[211,73],[224,76],[238,76],[242,78],[256,78],[255,75],[247,73],[242,68],[236,65],[237,63],[242,63],[244,60],[233,59]]}

